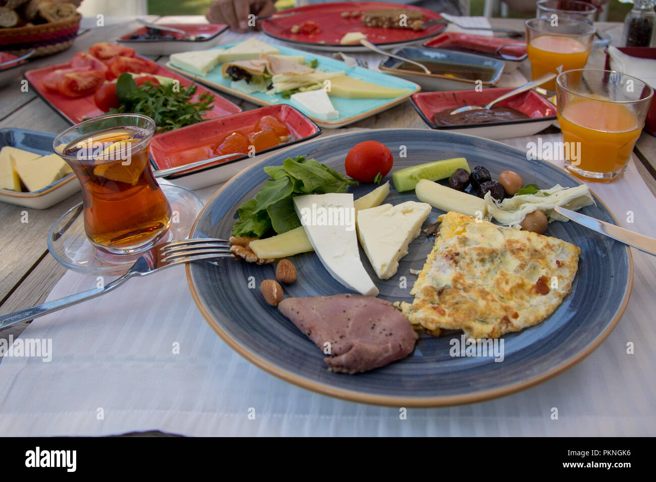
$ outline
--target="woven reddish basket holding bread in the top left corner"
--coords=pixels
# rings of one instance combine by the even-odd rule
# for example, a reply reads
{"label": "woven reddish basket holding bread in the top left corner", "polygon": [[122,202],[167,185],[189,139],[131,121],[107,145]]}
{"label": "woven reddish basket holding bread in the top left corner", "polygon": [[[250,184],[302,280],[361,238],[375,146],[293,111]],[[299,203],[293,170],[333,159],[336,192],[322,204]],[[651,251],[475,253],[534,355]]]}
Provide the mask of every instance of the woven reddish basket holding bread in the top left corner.
{"label": "woven reddish basket holding bread in the top left corner", "polygon": [[82,16],[26,27],[0,28],[0,50],[23,55],[34,49],[33,56],[51,55],[68,49],[75,40]]}

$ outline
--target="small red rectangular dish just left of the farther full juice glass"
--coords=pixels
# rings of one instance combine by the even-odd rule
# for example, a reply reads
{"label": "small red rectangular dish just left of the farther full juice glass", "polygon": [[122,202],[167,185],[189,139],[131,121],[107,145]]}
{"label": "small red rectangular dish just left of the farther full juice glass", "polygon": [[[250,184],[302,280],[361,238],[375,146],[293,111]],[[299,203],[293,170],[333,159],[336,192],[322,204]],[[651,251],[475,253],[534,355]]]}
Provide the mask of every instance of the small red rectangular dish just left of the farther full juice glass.
{"label": "small red rectangular dish just left of the farther full juice glass", "polygon": [[524,60],[526,43],[501,37],[485,37],[471,33],[444,32],[424,42],[424,47],[458,50],[470,54],[485,55],[501,60]]}

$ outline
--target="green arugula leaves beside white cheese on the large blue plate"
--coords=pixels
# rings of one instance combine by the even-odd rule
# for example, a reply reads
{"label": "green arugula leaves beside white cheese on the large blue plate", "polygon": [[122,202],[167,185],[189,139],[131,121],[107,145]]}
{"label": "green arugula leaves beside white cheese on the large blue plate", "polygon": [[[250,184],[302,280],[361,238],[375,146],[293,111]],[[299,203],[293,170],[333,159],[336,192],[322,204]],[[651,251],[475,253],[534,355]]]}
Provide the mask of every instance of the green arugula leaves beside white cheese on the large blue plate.
{"label": "green arugula leaves beside white cheese on the large blue plate", "polygon": [[266,166],[271,180],[237,211],[239,220],[232,226],[232,235],[262,237],[273,229],[277,234],[300,226],[294,209],[294,197],[304,194],[344,193],[357,181],[306,156],[287,157],[281,166]]}

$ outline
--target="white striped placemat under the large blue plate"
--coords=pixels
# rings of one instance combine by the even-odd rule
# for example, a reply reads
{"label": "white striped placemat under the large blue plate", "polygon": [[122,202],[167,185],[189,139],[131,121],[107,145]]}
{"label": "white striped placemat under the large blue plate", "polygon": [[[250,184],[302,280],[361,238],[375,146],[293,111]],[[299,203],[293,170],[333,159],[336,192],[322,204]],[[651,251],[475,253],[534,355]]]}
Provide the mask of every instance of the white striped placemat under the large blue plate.
{"label": "white striped placemat under the large blue plate", "polygon": [[[525,147],[529,140],[535,139],[510,143]],[[624,178],[593,189],[623,226],[656,236],[654,197],[634,161]],[[623,319],[569,371],[493,401],[409,409],[405,420],[400,409],[307,392],[251,365],[205,323],[184,268],[171,268],[33,321],[19,340],[52,340],[52,359],[5,357],[0,363],[0,433],[656,435],[655,259],[634,250],[634,289]],[[95,285],[95,277],[68,272],[49,299]],[[554,407],[558,420],[551,417]]]}

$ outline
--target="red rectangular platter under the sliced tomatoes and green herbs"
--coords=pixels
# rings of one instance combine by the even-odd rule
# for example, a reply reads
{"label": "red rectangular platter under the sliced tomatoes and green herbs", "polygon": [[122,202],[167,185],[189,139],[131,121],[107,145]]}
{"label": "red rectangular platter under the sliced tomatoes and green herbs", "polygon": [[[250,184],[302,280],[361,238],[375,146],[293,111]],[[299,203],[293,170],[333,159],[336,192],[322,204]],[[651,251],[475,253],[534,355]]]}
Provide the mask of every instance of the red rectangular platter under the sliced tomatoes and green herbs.
{"label": "red rectangular platter under the sliced tomatoes and green herbs", "polygon": [[[53,70],[65,68],[70,68],[70,62],[28,70],[24,74],[24,77],[28,79],[32,87],[36,90],[37,94],[39,94],[39,96],[41,96],[41,98],[43,98],[47,104],[49,104],[55,111],[62,115],[64,119],[72,124],[81,122],[82,119],[85,119],[85,117],[98,117],[98,115],[104,115],[106,112],[98,109],[96,104],[93,102],[93,94],[89,94],[85,97],[72,98],[67,97],[64,94],[60,94],[59,92],[52,92],[52,90],[45,88],[43,85],[43,77],[45,77],[45,75]],[[155,74],[177,79],[180,81],[180,85],[182,87],[187,87],[193,83],[179,73],[175,73],[173,70],[169,70],[162,66],[157,66]],[[197,100],[197,97],[203,92],[210,91],[198,85],[196,94],[192,100]],[[241,108],[230,102],[230,100],[224,99],[215,92],[211,92],[211,94],[214,94],[215,96],[213,108],[212,110],[209,110],[203,114],[204,119],[215,119],[216,117],[223,117],[224,115],[241,112]]]}

